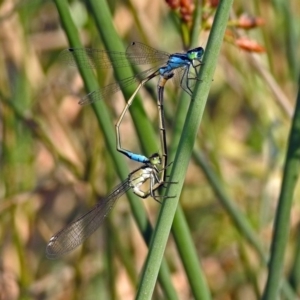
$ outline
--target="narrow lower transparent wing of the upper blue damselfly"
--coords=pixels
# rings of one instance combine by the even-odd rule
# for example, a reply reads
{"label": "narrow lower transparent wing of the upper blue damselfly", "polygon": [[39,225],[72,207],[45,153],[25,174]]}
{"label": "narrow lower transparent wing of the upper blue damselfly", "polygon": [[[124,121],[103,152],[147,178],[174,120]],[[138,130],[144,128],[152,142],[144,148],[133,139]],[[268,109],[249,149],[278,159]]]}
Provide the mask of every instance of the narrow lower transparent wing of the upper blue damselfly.
{"label": "narrow lower transparent wing of the upper blue damselfly", "polygon": [[139,83],[141,80],[147,78],[148,75],[155,72],[156,70],[157,68],[151,68],[132,77],[125,78],[119,82],[111,83],[100,90],[93,91],[87,94],[84,98],[80,99],[79,104],[88,105],[95,101],[104,100],[108,96],[111,96],[112,94],[118,92],[121,88],[126,88],[127,86],[130,86],[134,83]]}

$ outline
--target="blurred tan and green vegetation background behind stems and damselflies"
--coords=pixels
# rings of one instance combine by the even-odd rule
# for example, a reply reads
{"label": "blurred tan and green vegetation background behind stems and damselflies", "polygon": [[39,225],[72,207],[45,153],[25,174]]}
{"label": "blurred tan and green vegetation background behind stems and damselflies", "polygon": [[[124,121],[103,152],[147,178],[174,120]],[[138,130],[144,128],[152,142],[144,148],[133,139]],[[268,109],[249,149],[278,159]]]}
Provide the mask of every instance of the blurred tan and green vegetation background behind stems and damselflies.
{"label": "blurred tan and green vegetation background behind stems and damselflies", "polygon": [[[198,46],[205,48],[218,5],[108,2],[124,47],[140,41],[170,53],[189,49],[196,5],[202,8]],[[86,3],[69,6],[83,45],[104,49]],[[258,299],[265,284],[266,266],[232,222],[207,172],[267,254],[299,88],[299,12],[299,1],[239,0],[232,8],[180,199],[213,299]],[[50,237],[120,182],[93,110],[78,105],[86,93],[81,77],[59,58],[68,48],[60,24],[50,0],[1,1],[0,299],[132,299],[147,247],[126,196],[82,247],[56,261],[45,257]],[[107,70],[98,75],[100,86],[114,81]],[[168,83],[168,143],[179,92]],[[157,130],[156,99],[147,89],[140,94]],[[121,92],[112,98],[106,104],[115,124],[125,102]],[[121,130],[124,147],[141,151],[129,115]],[[158,135],[157,145],[160,151]],[[130,170],[139,166],[126,163]],[[298,185],[285,262],[286,278],[298,291],[299,193]],[[141,201],[155,224],[160,205]],[[172,236],[165,258],[178,298],[193,299]],[[159,285],[154,299],[165,299]]]}

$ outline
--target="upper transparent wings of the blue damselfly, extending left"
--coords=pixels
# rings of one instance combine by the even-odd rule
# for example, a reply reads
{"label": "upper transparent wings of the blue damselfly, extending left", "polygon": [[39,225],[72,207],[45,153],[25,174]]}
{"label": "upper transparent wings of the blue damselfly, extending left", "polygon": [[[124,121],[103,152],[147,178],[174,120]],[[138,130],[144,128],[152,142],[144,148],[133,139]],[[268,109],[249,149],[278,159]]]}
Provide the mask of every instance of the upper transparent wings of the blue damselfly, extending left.
{"label": "upper transparent wings of the blue damselfly, extending left", "polygon": [[77,66],[77,59],[85,68],[107,69],[112,65],[128,67],[152,63],[165,63],[169,53],[156,50],[142,43],[132,43],[126,52],[105,51],[93,48],[69,48],[61,52],[60,59],[66,65]]}

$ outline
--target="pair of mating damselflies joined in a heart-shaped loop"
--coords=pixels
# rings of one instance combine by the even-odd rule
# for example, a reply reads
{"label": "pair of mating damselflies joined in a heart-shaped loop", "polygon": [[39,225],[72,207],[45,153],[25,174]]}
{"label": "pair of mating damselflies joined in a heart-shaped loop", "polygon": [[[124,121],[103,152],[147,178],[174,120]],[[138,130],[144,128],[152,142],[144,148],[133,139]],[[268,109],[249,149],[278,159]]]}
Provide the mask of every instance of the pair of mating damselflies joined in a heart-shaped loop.
{"label": "pair of mating damselflies joined in a heart-shaped loop", "polygon": [[[143,65],[159,63],[159,67],[150,68],[133,77],[126,78],[117,83],[107,85],[101,90],[93,91],[80,100],[81,105],[91,104],[95,101],[104,100],[121,88],[125,88],[135,82],[139,85],[130,99],[127,101],[121,116],[116,123],[117,150],[132,160],[143,163],[143,166],[131,172],[128,178],[120,183],[114,191],[97,204],[90,212],[71,223],[56,235],[54,235],[47,246],[46,254],[48,258],[58,258],[83,243],[103,222],[108,212],[112,209],[116,200],[127,190],[132,189],[133,192],[141,198],[152,196],[158,200],[159,196],[155,195],[155,191],[166,182],[167,168],[167,146],[166,133],[164,125],[163,111],[163,94],[165,83],[174,77],[175,73],[180,74],[180,86],[189,95],[192,95],[191,81],[197,80],[198,69],[201,64],[204,49],[198,47],[187,51],[186,53],[169,54],[158,51],[154,48],[146,46],[142,43],[132,43],[126,52],[113,52],[97,49],[70,48],[62,53],[63,59],[67,64],[76,66],[77,64],[87,68],[110,68],[127,67],[130,65]],[[121,138],[119,128],[121,122],[135,99],[140,88],[149,80],[159,76],[157,85],[158,91],[158,112],[159,112],[159,129],[162,148],[162,159],[158,154],[154,154],[150,158],[125,150],[121,147]],[[160,166],[160,168],[158,168]],[[150,183],[150,188],[145,192],[141,186]]]}

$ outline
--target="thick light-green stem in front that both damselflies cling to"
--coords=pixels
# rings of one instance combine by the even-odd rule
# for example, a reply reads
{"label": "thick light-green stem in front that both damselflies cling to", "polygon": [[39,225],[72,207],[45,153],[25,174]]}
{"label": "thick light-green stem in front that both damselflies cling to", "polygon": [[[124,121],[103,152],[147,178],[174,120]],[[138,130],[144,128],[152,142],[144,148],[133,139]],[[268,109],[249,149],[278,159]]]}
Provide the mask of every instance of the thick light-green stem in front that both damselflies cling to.
{"label": "thick light-green stem in front that both damselflies cling to", "polygon": [[[197,131],[200,126],[202,114],[213,79],[213,74],[217,65],[217,59],[223,42],[232,2],[232,0],[221,1],[216,12],[214,24],[203,59],[204,65],[199,74],[199,78],[201,80],[201,92],[200,85],[197,84],[195,87],[195,97],[191,101],[189,107],[182,137],[180,139],[171,172],[170,180],[178,183],[170,184],[167,188],[167,195],[175,195],[176,197],[174,199],[168,199],[163,203],[136,299],[144,300],[151,299],[152,297],[159,266],[163,258],[165,246],[178,205],[179,196],[183,187],[184,177],[188,168]],[[186,247],[188,247],[188,245],[186,245]],[[209,291],[207,289],[202,290],[201,295],[195,295],[195,298],[209,299]]]}

